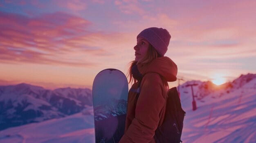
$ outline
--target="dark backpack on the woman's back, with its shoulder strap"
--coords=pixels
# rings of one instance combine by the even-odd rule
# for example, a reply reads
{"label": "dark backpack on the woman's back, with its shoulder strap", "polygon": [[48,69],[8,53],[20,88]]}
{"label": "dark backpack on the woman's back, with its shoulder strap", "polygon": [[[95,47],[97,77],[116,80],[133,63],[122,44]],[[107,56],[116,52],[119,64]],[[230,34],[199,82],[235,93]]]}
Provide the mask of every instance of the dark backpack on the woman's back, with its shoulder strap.
{"label": "dark backpack on the woman's back, with its shoulder strap", "polygon": [[[137,99],[139,98],[141,81],[142,79],[139,81]],[[156,143],[180,143],[182,142],[180,139],[186,112],[181,107],[176,87],[169,89],[167,94],[164,121],[155,130],[154,139]]]}

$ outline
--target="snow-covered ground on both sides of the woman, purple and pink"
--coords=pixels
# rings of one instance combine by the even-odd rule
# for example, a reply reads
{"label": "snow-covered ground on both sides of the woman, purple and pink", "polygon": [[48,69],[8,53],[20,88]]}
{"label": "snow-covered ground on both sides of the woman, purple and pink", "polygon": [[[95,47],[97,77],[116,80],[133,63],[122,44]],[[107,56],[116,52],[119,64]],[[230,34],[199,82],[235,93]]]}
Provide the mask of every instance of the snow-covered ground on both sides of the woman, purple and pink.
{"label": "snow-covered ground on both sides of the woman, purple and pink", "polygon": [[[186,111],[183,143],[256,143],[256,78],[232,84],[233,88],[195,98],[195,111],[191,87],[180,88]],[[199,90],[195,86],[195,95]],[[94,143],[92,107],[68,117],[1,130],[0,143]]]}

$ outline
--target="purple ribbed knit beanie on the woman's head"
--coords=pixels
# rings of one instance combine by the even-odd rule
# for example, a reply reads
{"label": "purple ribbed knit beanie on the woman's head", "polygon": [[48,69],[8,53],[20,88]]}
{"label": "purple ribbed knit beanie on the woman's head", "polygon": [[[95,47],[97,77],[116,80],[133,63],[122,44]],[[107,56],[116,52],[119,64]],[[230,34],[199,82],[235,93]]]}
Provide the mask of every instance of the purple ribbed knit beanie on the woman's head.
{"label": "purple ribbed knit beanie on the woman's head", "polygon": [[166,29],[150,27],[148,29],[144,29],[139,33],[138,37],[142,37],[146,39],[159,53],[161,56],[167,51],[167,47],[169,45],[171,35]]}

